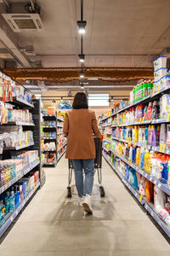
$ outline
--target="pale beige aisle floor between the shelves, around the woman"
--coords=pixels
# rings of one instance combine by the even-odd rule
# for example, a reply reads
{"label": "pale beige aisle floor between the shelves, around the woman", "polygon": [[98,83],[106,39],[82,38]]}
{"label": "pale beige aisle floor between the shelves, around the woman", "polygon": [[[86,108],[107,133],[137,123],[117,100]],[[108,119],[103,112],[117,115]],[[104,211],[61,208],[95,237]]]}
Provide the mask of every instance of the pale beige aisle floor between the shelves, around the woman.
{"label": "pale beige aisle floor between the shelves, around the woman", "polygon": [[83,215],[77,195],[65,198],[67,168],[62,158],[55,169],[47,169],[47,183],[4,239],[0,255],[169,255],[170,245],[105,160],[106,197],[99,198],[95,185],[93,216]]}

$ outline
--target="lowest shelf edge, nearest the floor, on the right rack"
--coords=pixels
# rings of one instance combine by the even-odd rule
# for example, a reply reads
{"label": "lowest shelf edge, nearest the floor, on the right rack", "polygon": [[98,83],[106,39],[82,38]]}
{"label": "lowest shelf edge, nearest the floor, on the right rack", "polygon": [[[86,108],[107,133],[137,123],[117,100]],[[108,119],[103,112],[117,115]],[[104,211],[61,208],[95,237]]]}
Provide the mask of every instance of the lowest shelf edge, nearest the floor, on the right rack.
{"label": "lowest shelf edge, nearest the floor, on the right rack", "polygon": [[142,198],[142,196],[139,195],[139,193],[135,189],[133,189],[133,187],[127,182],[127,180],[122,176],[122,174],[116,170],[116,167],[111,164],[110,160],[108,159],[108,157],[104,153],[103,153],[103,156],[104,156],[106,162],[111,166],[111,168],[121,178],[122,183],[124,183],[127,186],[127,188],[138,199],[138,201],[141,203],[141,205],[144,206],[145,210],[147,212],[149,212],[150,215],[152,216],[152,218],[154,218],[156,220],[156,223],[161,226],[161,229],[165,231],[165,233],[167,234],[168,237],[170,237],[170,227],[158,216],[158,214],[154,210],[153,204],[151,204],[150,202],[145,201],[144,198]]}

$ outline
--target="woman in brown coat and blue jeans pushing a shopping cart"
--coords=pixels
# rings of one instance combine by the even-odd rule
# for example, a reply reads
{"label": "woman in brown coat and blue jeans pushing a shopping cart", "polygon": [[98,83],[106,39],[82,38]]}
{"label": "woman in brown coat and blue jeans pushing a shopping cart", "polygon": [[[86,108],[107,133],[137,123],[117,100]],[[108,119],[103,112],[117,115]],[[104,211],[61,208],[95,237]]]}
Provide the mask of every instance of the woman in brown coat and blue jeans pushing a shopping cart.
{"label": "woman in brown coat and blue jeans pushing a shopping cart", "polygon": [[[72,104],[72,110],[65,113],[64,133],[67,137],[65,158],[71,159],[75,169],[79,205],[86,212],[93,212],[91,193],[94,185],[94,137],[102,137],[95,113],[88,110],[88,99],[85,93],[78,92]],[[83,183],[82,169],[85,172]]]}

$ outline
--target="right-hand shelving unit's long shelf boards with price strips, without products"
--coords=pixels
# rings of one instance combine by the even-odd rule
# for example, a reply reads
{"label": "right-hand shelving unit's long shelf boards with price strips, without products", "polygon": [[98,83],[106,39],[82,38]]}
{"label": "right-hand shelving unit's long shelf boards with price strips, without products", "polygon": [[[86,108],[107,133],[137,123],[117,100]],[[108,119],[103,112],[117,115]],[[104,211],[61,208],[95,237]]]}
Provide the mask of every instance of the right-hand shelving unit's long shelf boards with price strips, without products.
{"label": "right-hand shelving unit's long shelf boards with price strips, without products", "polygon": [[[129,110],[130,108],[136,107],[139,104],[147,104],[149,102],[154,102],[156,100],[159,100],[162,94],[165,93],[170,93],[170,85],[168,85],[166,88],[162,88],[159,90],[156,94],[155,91],[153,90],[150,96],[145,97],[142,101],[135,102],[134,104],[127,106],[126,108],[122,108],[118,110],[116,113],[112,113],[110,116],[107,116],[103,119],[100,119],[99,121],[99,128],[100,130],[103,131],[105,135],[110,135],[111,139],[104,138],[104,143],[103,143],[103,156],[105,160],[108,162],[108,164],[111,166],[111,168],[116,172],[118,177],[122,180],[122,183],[127,186],[127,189],[131,191],[131,193],[136,197],[136,199],[139,201],[141,205],[143,205],[144,209],[150,213],[151,217],[156,220],[156,223],[161,226],[161,229],[164,230],[167,234],[168,237],[170,237],[170,225],[166,224],[166,222],[160,217],[159,213],[156,212],[155,207],[152,203],[148,202],[145,200],[143,195],[139,194],[139,191],[134,189],[133,186],[128,183],[127,179],[122,176],[122,173],[119,172],[114,166],[114,164],[111,162],[111,153],[114,154],[117,158],[122,160],[127,164],[127,166],[133,167],[133,169],[136,172],[139,172],[143,177],[145,177],[147,180],[149,180],[151,183],[154,183],[159,189],[164,191],[167,195],[170,195],[170,183],[164,183],[162,180],[156,179],[156,177],[153,177],[150,173],[145,172],[144,169],[141,167],[137,166],[135,163],[132,162],[132,160],[127,159],[125,156],[122,154],[117,154],[116,151],[112,150],[111,147],[105,147],[105,143],[111,143],[112,140],[116,140],[120,143],[132,143],[136,147],[142,147],[145,149],[149,150],[154,150],[156,152],[160,152],[162,154],[170,154],[169,148],[167,148],[167,145],[165,143],[159,143],[156,144],[156,146],[150,146],[147,145],[146,143],[134,143],[132,141],[129,141],[128,139],[122,139],[120,137],[113,137],[112,136],[112,131],[116,129],[116,127],[123,127],[123,126],[132,126],[132,125],[157,125],[157,124],[167,124],[170,123],[170,114],[167,113],[163,118],[160,118],[159,116],[156,119],[151,119],[144,121],[143,119],[140,122],[135,122],[133,124],[112,124],[112,119],[117,116],[118,113],[122,113],[125,110]],[[117,120],[116,120],[117,122]],[[111,129],[107,130],[106,127],[111,127]]]}

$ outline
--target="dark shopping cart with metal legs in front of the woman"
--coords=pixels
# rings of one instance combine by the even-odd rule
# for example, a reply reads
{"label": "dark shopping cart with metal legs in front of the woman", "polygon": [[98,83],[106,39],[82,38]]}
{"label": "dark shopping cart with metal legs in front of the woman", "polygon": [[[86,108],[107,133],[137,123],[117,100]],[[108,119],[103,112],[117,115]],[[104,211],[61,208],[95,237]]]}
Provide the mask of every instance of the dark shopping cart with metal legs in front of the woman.
{"label": "dark shopping cart with metal legs in front of the woman", "polygon": [[[94,143],[95,143],[95,149],[96,149],[96,158],[94,160],[94,171],[98,172],[98,180],[99,180],[99,191],[100,191],[100,196],[105,197],[105,189],[101,185],[102,183],[102,172],[101,172],[101,166],[102,166],[102,142],[100,141],[99,137],[94,137]],[[69,160],[69,177],[68,177],[68,187],[67,187],[67,192],[68,192],[68,197],[71,198],[72,193],[71,193],[71,179],[72,179],[72,172],[74,170],[72,160]]]}

